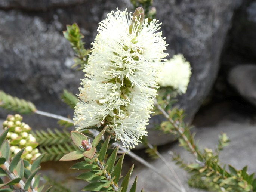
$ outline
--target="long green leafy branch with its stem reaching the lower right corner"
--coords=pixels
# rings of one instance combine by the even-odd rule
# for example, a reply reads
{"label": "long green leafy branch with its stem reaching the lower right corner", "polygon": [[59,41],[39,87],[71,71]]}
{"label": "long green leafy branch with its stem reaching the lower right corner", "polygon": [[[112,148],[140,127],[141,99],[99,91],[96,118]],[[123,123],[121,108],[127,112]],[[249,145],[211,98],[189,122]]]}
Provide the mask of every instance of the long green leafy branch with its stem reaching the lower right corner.
{"label": "long green leafy branch with its stem reaching the lower right corner", "polygon": [[[228,137],[226,134],[219,136],[219,143],[215,153],[212,149],[205,148],[204,152],[199,151],[198,146],[195,144],[194,134],[190,132],[190,127],[183,122],[183,111],[176,110],[175,114],[164,111],[157,101],[155,106],[168,121],[161,124],[164,133],[178,134],[180,145],[190,151],[196,158],[194,164],[185,163],[181,158],[175,157],[176,160],[183,168],[193,173],[192,178],[196,181],[200,180],[200,185],[197,187],[207,188],[222,192],[255,192],[256,191],[256,178],[254,174],[247,174],[247,167],[242,170],[236,170],[231,165],[228,165],[229,172],[222,168],[219,162],[219,151],[228,145]],[[191,185],[196,183],[193,180],[189,182]],[[208,186],[208,187],[207,187]]]}

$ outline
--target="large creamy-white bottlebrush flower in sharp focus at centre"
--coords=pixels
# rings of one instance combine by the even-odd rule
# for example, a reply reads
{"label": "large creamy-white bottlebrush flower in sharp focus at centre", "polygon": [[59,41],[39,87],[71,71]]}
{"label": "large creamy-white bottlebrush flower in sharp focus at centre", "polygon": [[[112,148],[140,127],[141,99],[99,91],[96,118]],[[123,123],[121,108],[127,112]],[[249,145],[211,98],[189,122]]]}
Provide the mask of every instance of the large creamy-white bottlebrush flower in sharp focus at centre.
{"label": "large creamy-white bottlebrush flower in sharp focus at centre", "polygon": [[156,32],[160,24],[155,19],[148,23],[143,14],[136,20],[117,9],[99,23],[73,119],[78,130],[108,125],[129,148],[147,133],[159,61],[167,55],[162,33]]}

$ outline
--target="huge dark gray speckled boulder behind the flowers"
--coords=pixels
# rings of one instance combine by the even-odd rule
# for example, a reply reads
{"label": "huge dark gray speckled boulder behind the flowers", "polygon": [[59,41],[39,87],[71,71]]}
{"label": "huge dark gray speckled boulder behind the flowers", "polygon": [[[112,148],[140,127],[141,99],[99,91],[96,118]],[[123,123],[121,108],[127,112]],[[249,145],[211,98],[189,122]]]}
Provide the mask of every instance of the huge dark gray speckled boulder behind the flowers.
{"label": "huge dark gray speckled boulder behind the flowers", "polygon": [[[162,0],[154,3],[157,18],[163,22],[163,36],[169,43],[167,52],[183,53],[193,68],[187,93],[178,103],[186,110],[186,120],[190,122],[216,78],[223,41],[233,11],[241,1]],[[59,97],[63,88],[77,93],[83,73],[70,69],[73,52],[61,31],[66,24],[77,22],[89,47],[98,22],[116,7],[132,10],[128,0],[1,1],[0,24],[4,27],[0,29],[0,89],[31,100],[40,110],[73,116]],[[1,112],[1,117],[5,116],[6,113]],[[29,120],[33,127],[56,123],[37,115],[24,120]],[[148,130],[149,135],[156,135]],[[150,140],[160,145],[173,138],[161,136],[161,140]]]}

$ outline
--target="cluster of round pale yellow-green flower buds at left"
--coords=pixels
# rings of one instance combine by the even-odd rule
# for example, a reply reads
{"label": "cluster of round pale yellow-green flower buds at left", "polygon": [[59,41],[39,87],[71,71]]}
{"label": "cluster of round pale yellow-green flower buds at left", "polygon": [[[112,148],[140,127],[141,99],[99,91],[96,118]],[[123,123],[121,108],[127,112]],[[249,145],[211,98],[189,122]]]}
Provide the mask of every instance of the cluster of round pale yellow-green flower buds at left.
{"label": "cluster of round pale yellow-green flower buds at left", "polygon": [[10,151],[12,157],[22,148],[25,148],[21,158],[32,162],[41,154],[39,153],[36,138],[30,134],[31,127],[22,122],[22,116],[19,114],[8,115],[3,122],[3,128],[9,128],[6,139],[10,142]]}

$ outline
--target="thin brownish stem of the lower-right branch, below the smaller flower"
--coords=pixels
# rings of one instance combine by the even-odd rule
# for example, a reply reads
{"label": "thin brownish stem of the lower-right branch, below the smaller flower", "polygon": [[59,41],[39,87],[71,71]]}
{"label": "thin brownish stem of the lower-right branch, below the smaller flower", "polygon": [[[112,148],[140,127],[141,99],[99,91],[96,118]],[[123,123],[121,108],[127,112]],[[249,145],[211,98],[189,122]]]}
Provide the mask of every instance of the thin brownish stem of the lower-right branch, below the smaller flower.
{"label": "thin brownish stem of the lower-right branch, below the smaller flower", "polygon": [[164,117],[167,118],[168,121],[173,125],[176,131],[179,132],[179,134],[182,136],[182,138],[185,140],[186,144],[188,145],[189,149],[191,150],[192,154],[197,159],[197,151],[195,150],[195,147],[191,144],[191,142],[188,140],[186,135],[184,134],[184,129],[180,126],[180,124],[173,121],[172,118],[169,117],[166,111],[157,103],[157,100],[155,99],[154,104],[157,106],[158,110],[164,115]]}

